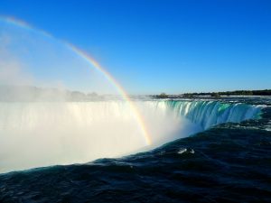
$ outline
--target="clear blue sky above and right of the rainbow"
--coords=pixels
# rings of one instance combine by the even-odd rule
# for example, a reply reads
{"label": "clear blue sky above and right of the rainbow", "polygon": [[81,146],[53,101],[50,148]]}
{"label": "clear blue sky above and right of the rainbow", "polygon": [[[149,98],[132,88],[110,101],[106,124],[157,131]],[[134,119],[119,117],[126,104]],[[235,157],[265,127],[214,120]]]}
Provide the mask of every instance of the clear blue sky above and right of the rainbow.
{"label": "clear blue sky above and right of the rainbow", "polygon": [[133,94],[271,88],[271,1],[1,0]]}

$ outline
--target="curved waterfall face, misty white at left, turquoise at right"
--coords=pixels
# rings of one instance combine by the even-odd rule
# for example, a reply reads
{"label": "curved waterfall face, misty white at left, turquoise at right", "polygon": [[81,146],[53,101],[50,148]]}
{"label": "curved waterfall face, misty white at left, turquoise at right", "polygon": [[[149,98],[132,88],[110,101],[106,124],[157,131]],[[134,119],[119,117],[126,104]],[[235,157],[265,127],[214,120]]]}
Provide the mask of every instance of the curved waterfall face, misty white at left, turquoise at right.
{"label": "curved waterfall face, misty white at left, turquoise at right", "polygon": [[[153,145],[211,125],[254,117],[255,106],[138,101]],[[145,138],[126,101],[1,102],[0,172],[88,162],[138,152]]]}

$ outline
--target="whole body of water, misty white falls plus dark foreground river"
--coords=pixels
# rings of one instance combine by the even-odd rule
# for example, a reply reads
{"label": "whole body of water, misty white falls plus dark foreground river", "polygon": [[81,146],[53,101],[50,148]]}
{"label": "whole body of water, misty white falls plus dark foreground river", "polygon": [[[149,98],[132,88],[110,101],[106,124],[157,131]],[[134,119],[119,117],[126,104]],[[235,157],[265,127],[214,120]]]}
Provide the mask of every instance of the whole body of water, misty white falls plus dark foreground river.
{"label": "whole body of water, misty white falls plus dark foreground river", "polygon": [[1,102],[0,201],[271,199],[269,97],[134,104]]}

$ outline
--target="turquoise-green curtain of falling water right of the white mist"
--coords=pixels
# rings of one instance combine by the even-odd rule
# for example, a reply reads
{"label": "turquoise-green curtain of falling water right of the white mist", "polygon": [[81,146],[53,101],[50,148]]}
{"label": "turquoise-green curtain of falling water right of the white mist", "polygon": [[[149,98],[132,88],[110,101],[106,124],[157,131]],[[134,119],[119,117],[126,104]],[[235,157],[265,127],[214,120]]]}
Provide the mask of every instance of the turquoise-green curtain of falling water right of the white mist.
{"label": "turquoise-green curtain of falling water right of the white mist", "polygon": [[205,130],[212,125],[222,123],[239,123],[250,118],[256,118],[260,106],[250,106],[243,103],[229,104],[220,101],[164,101],[177,115],[182,115]]}

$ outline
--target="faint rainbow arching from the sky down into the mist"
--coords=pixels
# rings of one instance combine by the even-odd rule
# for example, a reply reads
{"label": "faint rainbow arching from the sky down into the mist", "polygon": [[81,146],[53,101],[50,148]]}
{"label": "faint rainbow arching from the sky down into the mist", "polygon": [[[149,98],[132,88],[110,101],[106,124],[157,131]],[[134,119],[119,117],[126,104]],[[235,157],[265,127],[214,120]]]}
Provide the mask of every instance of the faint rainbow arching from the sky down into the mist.
{"label": "faint rainbow arching from the sky down into the mist", "polygon": [[145,144],[150,145],[152,143],[151,142],[151,136],[147,131],[144,119],[140,115],[140,113],[139,113],[137,107],[135,106],[134,102],[127,95],[126,90],[117,82],[116,78],[114,78],[109,72],[107,72],[107,70],[104,69],[98,63],[97,60],[94,60],[92,57],[89,56],[89,54],[87,52],[80,50],[78,47],[74,46],[73,44],[71,44],[69,42],[61,41],[59,39],[56,39],[50,33],[44,32],[44,31],[42,31],[40,29],[36,29],[33,26],[31,26],[29,23],[25,23],[22,20],[18,20],[18,19],[15,19],[14,17],[10,17],[10,16],[0,16],[0,20],[5,22],[5,23],[10,23],[10,24],[13,24],[15,26],[19,26],[19,27],[21,27],[23,29],[27,29],[29,31],[32,31],[32,32],[39,32],[43,36],[52,38],[54,40],[57,40],[58,42],[63,43],[68,49],[70,49],[70,51],[73,51],[75,54],[79,55],[79,57],[82,58],[83,60],[86,60],[91,67],[93,67],[93,68],[97,69],[99,72],[101,72],[103,74],[103,76],[105,78],[107,78],[107,80],[117,89],[117,92],[121,95],[121,97],[123,97],[128,102],[129,107],[133,111],[133,114],[135,116],[135,120],[136,120],[137,124],[139,125],[139,127],[140,127],[140,129],[142,131]]}

